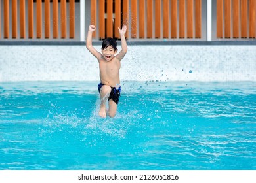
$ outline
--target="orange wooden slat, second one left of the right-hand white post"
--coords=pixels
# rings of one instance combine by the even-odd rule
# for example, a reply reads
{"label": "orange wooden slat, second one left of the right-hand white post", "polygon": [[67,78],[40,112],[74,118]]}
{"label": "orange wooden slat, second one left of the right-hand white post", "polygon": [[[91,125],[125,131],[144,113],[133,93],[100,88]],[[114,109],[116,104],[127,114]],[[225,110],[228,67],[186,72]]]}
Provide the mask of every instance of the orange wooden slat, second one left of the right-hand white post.
{"label": "orange wooden slat, second one left of the right-hand white post", "polygon": [[187,38],[193,38],[193,15],[194,15],[194,6],[193,6],[193,0],[187,0],[187,6],[186,6],[186,37]]}

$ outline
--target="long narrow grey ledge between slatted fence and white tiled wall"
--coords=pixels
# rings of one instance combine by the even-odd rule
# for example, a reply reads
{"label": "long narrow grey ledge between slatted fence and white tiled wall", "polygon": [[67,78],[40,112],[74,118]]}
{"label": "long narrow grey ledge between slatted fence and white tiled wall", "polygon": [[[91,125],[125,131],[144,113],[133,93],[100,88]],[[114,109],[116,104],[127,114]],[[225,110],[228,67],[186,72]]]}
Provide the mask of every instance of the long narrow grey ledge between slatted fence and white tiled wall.
{"label": "long narrow grey ledge between slatted fence and white tiled wall", "polygon": [[[120,43],[121,41],[117,41]],[[0,41],[1,46],[85,46],[85,41]],[[93,41],[101,45],[102,41]],[[170,46],[255,46],[256,41],[127,41],[128,45],[170,45]]]}

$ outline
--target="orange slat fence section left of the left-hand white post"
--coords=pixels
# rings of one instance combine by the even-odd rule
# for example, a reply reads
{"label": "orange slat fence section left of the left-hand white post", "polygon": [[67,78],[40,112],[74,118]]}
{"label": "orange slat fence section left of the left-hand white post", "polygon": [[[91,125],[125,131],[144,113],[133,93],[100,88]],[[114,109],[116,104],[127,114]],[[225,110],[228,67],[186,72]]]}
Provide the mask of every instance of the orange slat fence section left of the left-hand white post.
{"label": "orange slat fence section left of the left-hand white post", "polygon": [[[96,1],[96,0],[95,0]],[[113,0],[112,0],[113,1]],[[121,0],[119,0],[121,1]],[[52,2],[52,3],[51,3]],[[58,6],[60,5],[60,26],[61,26],[61,38],[67,38],[67,2],[69,3],[69,29],[70,36],[69,39],[74,39],[75,37],[75,0],[3,0],[3,38],[9,39],[9,31],[11,24],[11,37],[12,39],[17,39],[18,34],[20,39],[26,38],[26,31],[28,31],[29,39],[49,39],[51,37],[51,18],[53,20],[53,38],[58,38]],[[10,7],[11,3],[11,7]],[[44,3],[44,6],[43,6]],[[53,7],[53,12],[51,14],[51,6]],[[45,14],[43,15],[43,7]],[[1,0],[0,0],[1,8]],[[11,8],[11,9],[10,9]],[[35,8],[35,12],[34,12]],[[11,22],[10,14],[11,11]],[[28,27],[26,27],[26,12],[28,14]],[[1,14],[0,14],[1,15]],[[44,22],[43,22],[44,16]],[[36,24],[34,26],[34,24]],[[45,25],[45,37],[43,37],[43,24]],[[19,27],[18,27],[19,25]],[[0,39],[1,39],[1,17],[0,17]],[[27,28],[27,30],[26,30]],[[35,33],[34,33],[35,31]]]}

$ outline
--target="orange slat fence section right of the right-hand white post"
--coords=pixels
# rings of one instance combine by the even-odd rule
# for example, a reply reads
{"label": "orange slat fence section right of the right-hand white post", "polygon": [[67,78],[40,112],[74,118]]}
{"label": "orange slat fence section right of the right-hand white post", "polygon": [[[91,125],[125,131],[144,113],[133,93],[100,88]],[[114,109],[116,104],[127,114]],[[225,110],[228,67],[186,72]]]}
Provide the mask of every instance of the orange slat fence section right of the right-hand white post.
{"label": "orange slat fence section right of the right-hand white post", "polygon": [[255,11],[255,0],[217,0],[217,38],[255,38]]}

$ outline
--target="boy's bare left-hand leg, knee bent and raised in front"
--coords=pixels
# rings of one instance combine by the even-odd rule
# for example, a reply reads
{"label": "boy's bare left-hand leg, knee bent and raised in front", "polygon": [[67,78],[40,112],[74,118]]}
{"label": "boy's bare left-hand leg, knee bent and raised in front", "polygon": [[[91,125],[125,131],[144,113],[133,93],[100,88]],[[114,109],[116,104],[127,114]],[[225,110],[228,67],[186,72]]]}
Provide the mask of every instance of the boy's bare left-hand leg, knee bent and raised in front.
{"label": "boy's bare left-hand leg, knee bent and raised in front", "polygon": [[111,87],[108,85],[103,85],[100,88],[100,111],[98,112],[98,115],[102,118],[106,118],[106,100],[110,96]]}

